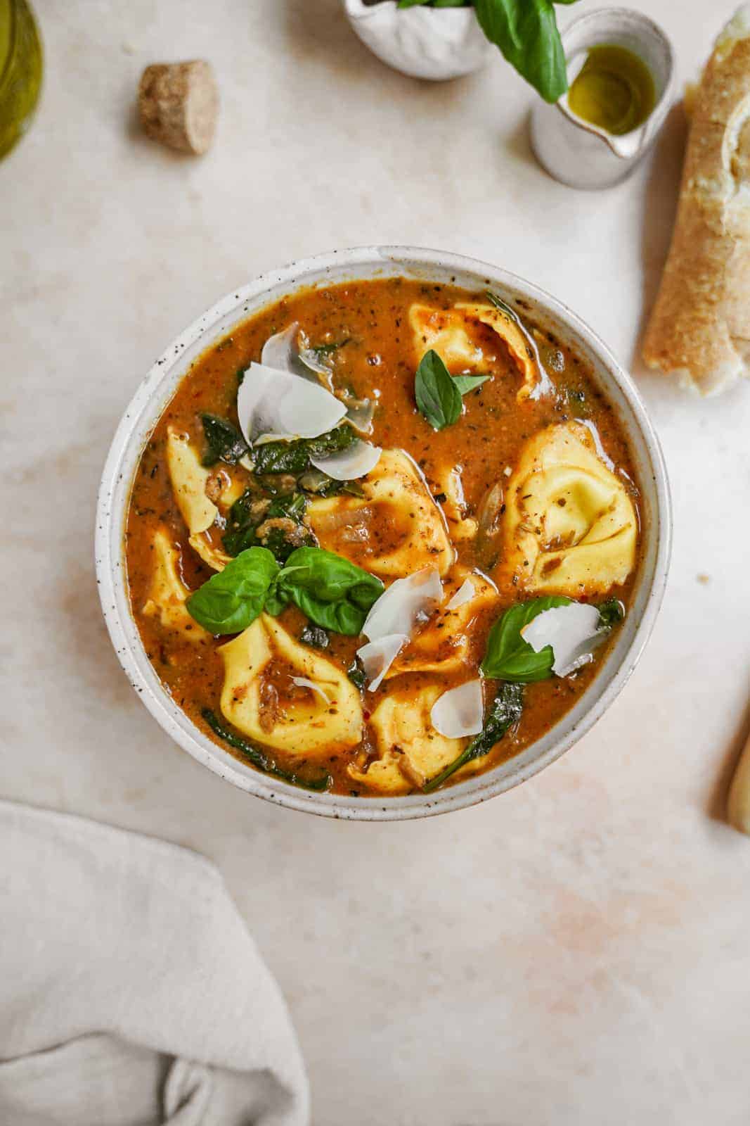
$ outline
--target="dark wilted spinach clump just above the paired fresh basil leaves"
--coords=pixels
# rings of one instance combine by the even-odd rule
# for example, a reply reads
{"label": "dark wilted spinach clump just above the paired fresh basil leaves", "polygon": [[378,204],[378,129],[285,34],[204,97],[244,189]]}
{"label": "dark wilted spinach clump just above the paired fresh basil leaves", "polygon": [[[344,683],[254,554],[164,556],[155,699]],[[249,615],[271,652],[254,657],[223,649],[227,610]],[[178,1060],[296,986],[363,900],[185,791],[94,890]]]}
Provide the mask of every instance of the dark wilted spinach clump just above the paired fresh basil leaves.
{"label": "dark wilted spinach clump just above the paired fresh basil leaves", "polygon": [[302,544],[317,543],[302,524],[307,499],[302,493],[287,493],[268,501],[247,489],[229,509],[223,543],[229,555],[240,555],[249,547],[268,547],[279,561],[291,555]]}

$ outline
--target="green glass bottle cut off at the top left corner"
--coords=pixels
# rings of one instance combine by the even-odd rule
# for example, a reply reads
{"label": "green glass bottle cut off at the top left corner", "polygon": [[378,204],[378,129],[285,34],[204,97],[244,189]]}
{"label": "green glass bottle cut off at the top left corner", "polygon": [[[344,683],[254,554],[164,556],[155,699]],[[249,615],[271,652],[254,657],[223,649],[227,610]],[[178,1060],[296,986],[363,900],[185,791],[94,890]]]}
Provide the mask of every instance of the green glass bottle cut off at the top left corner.
{"label": "green glass bottle cut off at the top left corner", "polygon": [[42,87],[42,42],[26,0],[0,0],[0,158],[29,126]]}

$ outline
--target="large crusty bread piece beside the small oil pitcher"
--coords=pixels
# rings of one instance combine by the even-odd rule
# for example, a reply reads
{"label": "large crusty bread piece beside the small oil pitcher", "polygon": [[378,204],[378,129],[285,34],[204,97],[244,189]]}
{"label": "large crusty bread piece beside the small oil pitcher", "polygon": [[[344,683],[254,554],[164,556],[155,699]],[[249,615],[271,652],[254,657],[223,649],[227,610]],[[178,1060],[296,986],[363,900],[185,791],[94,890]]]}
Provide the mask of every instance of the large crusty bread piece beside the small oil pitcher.
{"label": "large crusty bread piece beside the small oil pitcher", "polygon": [[750,3],[692,98],[677,222],[643,346],[703,394],[750,376]]}

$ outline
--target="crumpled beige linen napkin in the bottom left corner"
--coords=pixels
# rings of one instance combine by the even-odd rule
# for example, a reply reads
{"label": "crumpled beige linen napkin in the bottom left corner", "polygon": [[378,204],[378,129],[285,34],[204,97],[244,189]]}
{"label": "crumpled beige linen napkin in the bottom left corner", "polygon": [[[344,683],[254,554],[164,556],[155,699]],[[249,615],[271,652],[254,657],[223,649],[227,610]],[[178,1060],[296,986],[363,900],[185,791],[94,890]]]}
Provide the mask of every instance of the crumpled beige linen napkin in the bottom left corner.
{"label": "crumpled beige linen napkin in the bottom left corner", "polygon": [[0,801],[0,1123],[306,1126],[281,993],[217,869]]}

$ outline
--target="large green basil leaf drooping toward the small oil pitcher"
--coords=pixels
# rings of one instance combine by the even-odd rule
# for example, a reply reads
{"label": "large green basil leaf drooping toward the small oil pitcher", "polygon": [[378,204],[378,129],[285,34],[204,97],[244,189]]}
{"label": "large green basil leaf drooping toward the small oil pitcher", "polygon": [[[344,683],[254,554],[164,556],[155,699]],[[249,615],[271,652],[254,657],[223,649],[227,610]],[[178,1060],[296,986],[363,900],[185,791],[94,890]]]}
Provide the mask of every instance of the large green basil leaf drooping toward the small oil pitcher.
{"label": "large green basil leaf drooping toward the small oil pitcher", "polygon": [[[575,0],[569,0],[575,2]],[[552,0],[473,0],[479,25],[545,101],[568,89],[568,71]]]}

